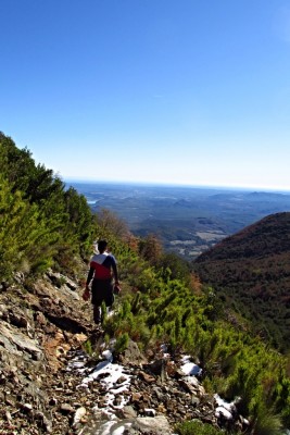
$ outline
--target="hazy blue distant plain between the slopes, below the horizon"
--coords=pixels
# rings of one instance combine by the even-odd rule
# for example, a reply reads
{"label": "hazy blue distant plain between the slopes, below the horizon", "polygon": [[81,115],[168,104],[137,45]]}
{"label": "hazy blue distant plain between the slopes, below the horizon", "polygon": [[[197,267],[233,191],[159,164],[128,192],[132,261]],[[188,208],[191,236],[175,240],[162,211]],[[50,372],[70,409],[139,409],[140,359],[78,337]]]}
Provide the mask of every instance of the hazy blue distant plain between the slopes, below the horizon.
{"label": "hazy blue distant plain between the slopes, below the horizon", "polygon": [[109,209],[137,236],[155,234],[190,260],[260,219],[290,211],[290,192],[70,183],[93,211]]}

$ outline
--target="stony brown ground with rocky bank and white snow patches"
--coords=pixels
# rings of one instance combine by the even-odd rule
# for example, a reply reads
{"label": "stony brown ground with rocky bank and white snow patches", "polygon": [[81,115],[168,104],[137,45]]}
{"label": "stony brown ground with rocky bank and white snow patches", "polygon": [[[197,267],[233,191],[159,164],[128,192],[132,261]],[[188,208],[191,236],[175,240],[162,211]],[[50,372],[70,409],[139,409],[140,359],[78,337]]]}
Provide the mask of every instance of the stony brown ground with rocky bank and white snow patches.
{"label": "stony brown ground with rocky bank and white snow patches", "polygon": [[117,358],[72,279],[48,273],[0,287],[0,434],[171,435],[199,419],[244,428],[235,403],[207,395],[190,357],[134,341]]}

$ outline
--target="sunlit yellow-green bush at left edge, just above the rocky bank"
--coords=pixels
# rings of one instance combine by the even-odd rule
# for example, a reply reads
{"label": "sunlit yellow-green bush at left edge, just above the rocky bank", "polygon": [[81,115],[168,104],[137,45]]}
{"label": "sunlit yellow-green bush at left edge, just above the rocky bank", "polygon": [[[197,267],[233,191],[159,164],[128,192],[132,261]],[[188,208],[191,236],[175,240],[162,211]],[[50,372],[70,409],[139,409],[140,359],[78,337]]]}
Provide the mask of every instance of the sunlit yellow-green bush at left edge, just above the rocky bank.
{"label": "sunlit yellow-green bush at left edge, just above the rocky bank", "polygon": [[[5,278],[14,270],[37,271],[52,264],[58,231],[42,219],[36,204],[14,194],[0,176],[0,271]],[[54,248],[53,248],[54,246]]]}

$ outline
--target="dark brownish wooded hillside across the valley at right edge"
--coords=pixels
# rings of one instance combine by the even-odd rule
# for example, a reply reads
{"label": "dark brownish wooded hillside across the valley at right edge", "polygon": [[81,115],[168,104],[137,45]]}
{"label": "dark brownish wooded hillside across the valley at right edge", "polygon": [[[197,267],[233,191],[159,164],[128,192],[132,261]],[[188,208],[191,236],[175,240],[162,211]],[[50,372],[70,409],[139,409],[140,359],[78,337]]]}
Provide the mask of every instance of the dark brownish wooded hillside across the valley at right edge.
{"label": "dark brownish wooded hillside across the valley at right edge", "polygon": [[272,214],[201,254],[193,269],[277,348],[290,347],[290,213]]}

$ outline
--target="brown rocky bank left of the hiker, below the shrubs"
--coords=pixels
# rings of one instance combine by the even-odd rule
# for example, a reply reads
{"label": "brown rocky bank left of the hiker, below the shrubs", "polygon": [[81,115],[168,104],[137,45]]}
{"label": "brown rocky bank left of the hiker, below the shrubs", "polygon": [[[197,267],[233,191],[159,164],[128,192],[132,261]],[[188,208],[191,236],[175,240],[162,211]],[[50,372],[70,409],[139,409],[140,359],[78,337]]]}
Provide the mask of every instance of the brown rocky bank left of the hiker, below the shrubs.
{"label": "brown rocky bank left of the hiker, below the shrubs", "polygon": [[[77,285],[50,272],[25,283],[15,275],[0,288],[0,433],[53,433],[47,384],[62,369],[63,355],[90,322],[80,311]],[[56,275],[58,277],[58,275]],[[59,281],[60,282],[60,281]],[[67,286],[70,283],[70,286]],[[80,315],[81,312],[81,315]],[[62,326],[64,326],[62,328]],[[86,336],[83,337],[83,340]]]}

